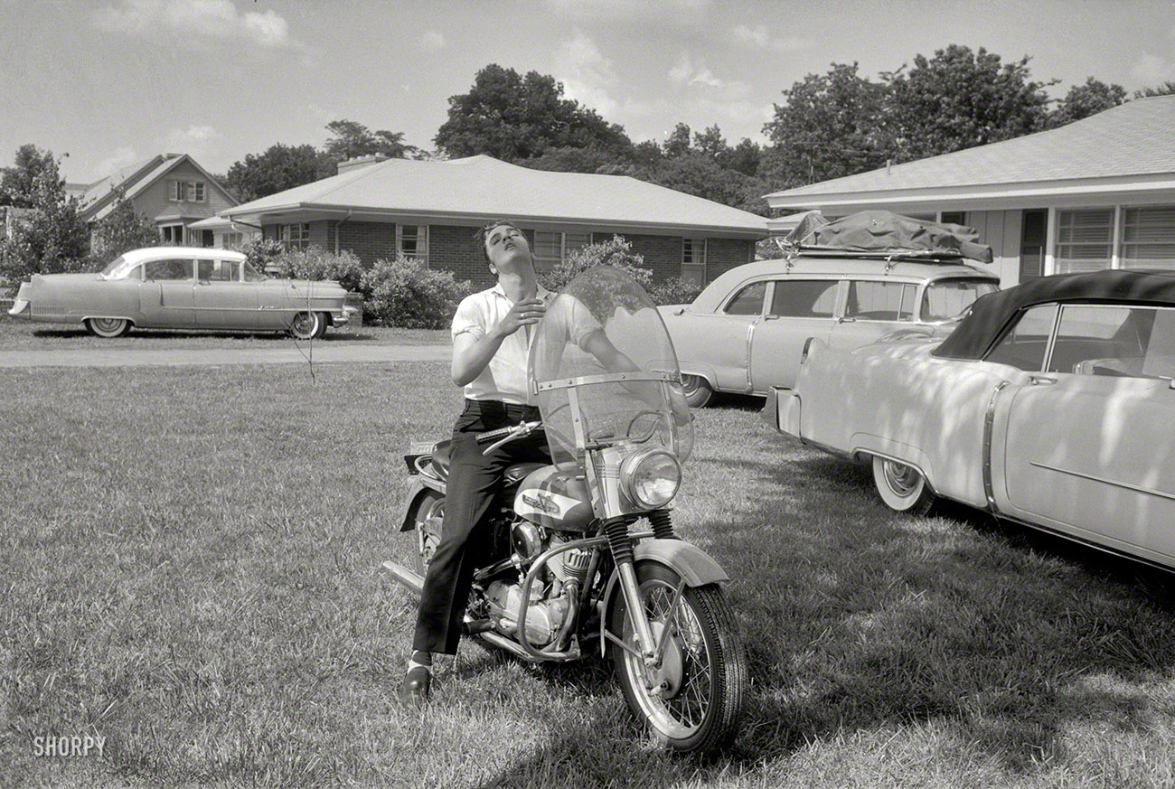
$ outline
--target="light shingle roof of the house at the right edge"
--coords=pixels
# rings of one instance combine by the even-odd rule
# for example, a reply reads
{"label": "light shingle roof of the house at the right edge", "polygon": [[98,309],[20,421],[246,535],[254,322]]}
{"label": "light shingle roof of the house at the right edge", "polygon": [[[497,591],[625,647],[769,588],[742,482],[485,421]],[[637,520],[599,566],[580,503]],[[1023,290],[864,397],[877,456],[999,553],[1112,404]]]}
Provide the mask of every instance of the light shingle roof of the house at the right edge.
{"label": "light shingle roof of the house at the right edge", "polygon": [[1136,99],[1048,132],[767,195],[791,198],[1175,173],[1175,95]]}

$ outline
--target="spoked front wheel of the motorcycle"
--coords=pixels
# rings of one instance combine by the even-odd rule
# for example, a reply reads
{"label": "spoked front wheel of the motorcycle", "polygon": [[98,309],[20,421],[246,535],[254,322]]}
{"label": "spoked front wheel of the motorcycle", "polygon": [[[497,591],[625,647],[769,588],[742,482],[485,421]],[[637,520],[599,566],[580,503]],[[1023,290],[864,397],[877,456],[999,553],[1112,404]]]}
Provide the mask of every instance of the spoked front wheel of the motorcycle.
{"label": "spoked front wheel of the motorcycle", "polygon": [[[609,643],[629,707],[674,750],[706,751],[725,744],[737,731],[746,681],[746,656],[730,603],[716,584],[684,587],[678,598],[680,575],[657,562],[640,562],[637,580],[653,639],[664,636],[665,648],[660,665],[646,668],[638,655]],[[632,620],[619,592],[609,612],[609,629],[636,649]]]}

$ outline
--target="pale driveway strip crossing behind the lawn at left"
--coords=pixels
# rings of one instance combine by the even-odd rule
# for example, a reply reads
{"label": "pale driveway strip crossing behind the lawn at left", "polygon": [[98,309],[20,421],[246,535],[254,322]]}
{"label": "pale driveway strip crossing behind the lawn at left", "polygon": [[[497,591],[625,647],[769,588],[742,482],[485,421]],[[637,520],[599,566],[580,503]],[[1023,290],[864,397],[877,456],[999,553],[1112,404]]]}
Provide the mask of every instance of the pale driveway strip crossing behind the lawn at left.
{"label": "pale driveway strip crossing behind the lawn at left", "polygon": [[351,345],[323,343],[298,348],[266,349],[116,349],[0,351],[0,367],[126,367],[143,365],[183,366],[200,364],[306,364],[328,362],[448,362],[448,345]]}

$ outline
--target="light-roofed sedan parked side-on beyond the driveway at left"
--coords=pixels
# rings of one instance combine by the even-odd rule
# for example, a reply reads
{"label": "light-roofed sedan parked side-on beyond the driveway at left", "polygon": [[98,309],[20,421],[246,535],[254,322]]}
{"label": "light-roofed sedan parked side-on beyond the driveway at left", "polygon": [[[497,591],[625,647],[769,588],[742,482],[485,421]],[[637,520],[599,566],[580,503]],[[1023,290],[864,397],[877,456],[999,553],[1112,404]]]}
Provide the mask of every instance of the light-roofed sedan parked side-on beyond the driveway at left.
{"label": "light-roofed sedan parked side-on beyond the driveway at left", "polygon": [[8,313],[85,324],[99,337],[136,329],[288,331],[300,339],[345,325],[337,282],[274,279],[224,249],[153,247],[115,258],[101,274],[35,274]]}

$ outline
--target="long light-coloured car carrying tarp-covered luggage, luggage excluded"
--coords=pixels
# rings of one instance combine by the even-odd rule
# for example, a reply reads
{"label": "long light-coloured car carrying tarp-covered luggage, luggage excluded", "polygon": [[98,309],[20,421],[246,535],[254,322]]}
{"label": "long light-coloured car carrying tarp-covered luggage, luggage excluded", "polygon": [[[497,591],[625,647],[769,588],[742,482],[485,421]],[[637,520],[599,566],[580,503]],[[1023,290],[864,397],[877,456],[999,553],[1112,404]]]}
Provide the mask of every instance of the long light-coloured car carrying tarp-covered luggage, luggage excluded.
{"label": "long light-coloured car carrying tarp-covered luggage, luggage excluded", "polygon": [[690,305],[663,306],[691,406],[713,392],[792,386],[808,337],[853,349],[897,330],[946,336],[996,276],[959,262],[801,254],[719,275]]}

